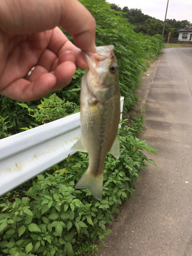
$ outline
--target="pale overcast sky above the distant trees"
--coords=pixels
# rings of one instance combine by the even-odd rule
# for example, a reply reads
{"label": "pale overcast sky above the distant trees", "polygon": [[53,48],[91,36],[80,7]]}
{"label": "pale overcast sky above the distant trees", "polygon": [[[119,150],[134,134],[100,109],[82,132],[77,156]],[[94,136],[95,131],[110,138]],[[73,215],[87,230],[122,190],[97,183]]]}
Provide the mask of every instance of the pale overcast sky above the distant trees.
{"label": "pale overcast sky above the distant trees", "polygon": [[[108,3],[119,5],[123,8],[141,9],[142,13],[165,19],[167,0],[106,0]],[[192,23],[192,0],[169,0],[166,18],[176,20],[188,20]]]}

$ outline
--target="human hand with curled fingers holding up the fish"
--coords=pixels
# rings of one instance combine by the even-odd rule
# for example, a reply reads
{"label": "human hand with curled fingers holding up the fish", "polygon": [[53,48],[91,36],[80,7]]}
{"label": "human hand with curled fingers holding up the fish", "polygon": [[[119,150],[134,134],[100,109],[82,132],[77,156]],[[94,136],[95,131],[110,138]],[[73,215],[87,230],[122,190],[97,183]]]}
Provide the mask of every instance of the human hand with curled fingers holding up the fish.
{"label": "human hand with curled fingers holding up the fish", "polygon": [[35,100],[66,87],[76,68],[88,68],[81,50],[57,25],[77,47],[96,52],[95,20],[77,0],[0,1],[1,94]]}

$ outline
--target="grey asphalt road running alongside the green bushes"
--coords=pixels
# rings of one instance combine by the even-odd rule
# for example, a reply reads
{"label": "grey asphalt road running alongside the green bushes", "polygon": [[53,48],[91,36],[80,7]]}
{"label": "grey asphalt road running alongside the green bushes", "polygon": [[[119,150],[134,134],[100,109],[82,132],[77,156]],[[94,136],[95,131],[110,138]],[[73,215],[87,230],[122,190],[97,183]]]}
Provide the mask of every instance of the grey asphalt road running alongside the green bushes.
{"label": "grey asphalt road running alongside the green bushes", "polygon": [[142,174],[99,256],[192,255],[191,71],[191,48],[167,48],[143,78],[141,139],[158,150],[146,155],[159,167]]}

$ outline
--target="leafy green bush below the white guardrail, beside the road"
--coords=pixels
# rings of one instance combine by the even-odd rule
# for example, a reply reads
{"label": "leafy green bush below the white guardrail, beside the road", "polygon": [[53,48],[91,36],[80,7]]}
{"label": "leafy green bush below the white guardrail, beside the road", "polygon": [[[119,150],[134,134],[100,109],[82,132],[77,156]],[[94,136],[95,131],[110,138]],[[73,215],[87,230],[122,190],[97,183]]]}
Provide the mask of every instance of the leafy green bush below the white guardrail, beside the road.
{"label": "leafy green bush below the white guardrail, beside the road", "polygon": [[120,158],[108,153],[104,164],[101,201],[88,189],[74,188],[89,164],[88,154],[80,152],[28,182],[24,187],[30,188],[19,191],[20,195],[8,193],[1,199],[1,256],[70,256],[84,251],[85,240],[91,252],[97,248],[92,240],[99,237],[104,244],[111,232],[105,224],[111,223],[114,212],[119,214],[118,205],[133,196],[146,161],[155,164],[142,152],[155,153],[154,148],[133,138],[126,120],[123,123],[119,129]]}

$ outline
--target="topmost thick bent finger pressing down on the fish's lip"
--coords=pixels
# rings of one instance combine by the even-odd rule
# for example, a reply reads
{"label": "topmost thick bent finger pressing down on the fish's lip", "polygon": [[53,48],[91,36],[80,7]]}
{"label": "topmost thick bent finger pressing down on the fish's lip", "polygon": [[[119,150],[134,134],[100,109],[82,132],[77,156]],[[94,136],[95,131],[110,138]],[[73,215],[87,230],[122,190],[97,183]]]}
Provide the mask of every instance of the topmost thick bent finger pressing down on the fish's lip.
{"label": "topmost thick bent finger pressing down on the fish's lip", "polygon": [[84,51],[96,52],[95,19],[77,0],[1,0],[0,31],[10,37],[60,25]]}

